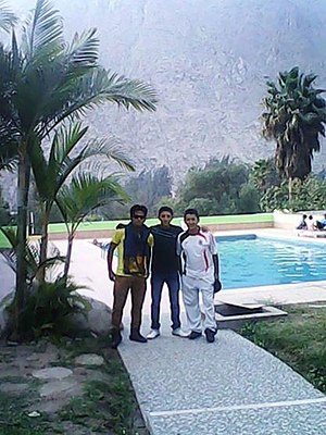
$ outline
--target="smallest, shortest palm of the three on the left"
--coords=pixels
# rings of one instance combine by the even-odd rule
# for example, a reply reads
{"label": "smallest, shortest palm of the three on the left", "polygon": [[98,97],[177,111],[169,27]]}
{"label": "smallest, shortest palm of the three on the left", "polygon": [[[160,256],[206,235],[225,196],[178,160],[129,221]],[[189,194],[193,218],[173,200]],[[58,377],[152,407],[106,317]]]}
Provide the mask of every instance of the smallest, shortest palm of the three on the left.
{"label": "smallest, shortest palm of the three on the left", "polygon": [[101,177],[77,173],[73,176],[71,184],[63,186],[59,191],[57,204],[68,233],[65,277],[68,274],[73,241],[78,226],[89,213],[114,200],[128,200],[128,196],[120,186],[117,178],[112,175]]}

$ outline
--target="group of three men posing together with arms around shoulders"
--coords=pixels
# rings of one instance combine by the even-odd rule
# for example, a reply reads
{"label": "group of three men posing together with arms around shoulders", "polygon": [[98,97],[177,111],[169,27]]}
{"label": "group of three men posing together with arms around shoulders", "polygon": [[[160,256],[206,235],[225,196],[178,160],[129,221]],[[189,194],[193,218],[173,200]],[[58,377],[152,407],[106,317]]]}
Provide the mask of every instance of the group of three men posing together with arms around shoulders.
{"label": "group of three men posing together with arms around shoulders", "polygon": [[[197,210],[188,209],[184,220],[188,227],[171,224],[173,210],[162,207],[159,211],[160,224],[151,228],[145,225],[147,208],[133,206],[130,223],[115,231],[108,252],[109,278],[114,282],[112,310],[112,348],[122,341],[121,322],[128,291],[131,291],[130,340],[146,343],[140,334],[141,310],[146,294],[146,279],[151,264],[151,331],[147,338],[160,335],[160,304],[164,283],[168,287],[172,334],[179,337],[199,338],[202,335],[199,294],[204,307],[204,333],[213,343],[216,334],[214,291],[221,289],[218,258],[213,235],[199,227]],[[112,270],[113,252],[117,248],[116,274]],[[183,258],[183,260],[181,260]],[[181,272],[183,263],[183,272]],[[181,272],[183,297],[190,335],[180,328],[179,274]]]}

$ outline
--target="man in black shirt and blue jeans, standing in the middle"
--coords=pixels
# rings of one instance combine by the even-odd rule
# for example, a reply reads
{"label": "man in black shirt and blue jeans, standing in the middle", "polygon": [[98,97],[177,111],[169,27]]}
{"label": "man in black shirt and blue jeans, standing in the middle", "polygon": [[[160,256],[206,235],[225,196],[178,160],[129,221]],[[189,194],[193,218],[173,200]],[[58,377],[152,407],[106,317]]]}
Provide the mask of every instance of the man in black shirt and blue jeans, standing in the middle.
{"label": "man in black shirt and blue jeans, standing in the middle", "polygon": [[183,228],[172,225],[173,210],[170,207],[161,207],[159,210],[159,225],[152,226],[151,233],[154,237],[151,264],[151,331],[147,338],[153,339],[160,335],[160,304],[163,284],[168,287],[172,334],[179,337],[187,337],[180,328],[180,307],[179,307],[179,258],[176,254],[176,240]]}

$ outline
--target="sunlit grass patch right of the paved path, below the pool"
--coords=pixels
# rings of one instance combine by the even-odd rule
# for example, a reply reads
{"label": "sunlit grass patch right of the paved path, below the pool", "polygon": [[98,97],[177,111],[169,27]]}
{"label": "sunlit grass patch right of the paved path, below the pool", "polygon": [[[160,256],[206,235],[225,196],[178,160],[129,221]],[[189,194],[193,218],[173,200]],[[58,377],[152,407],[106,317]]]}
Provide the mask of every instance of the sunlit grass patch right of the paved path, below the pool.
{"label": "sunlit grass patch right of the paved path, below the pool", "polygon": [[291,306],[287,318],[249,323],[241,335],[268,350],[326,393],[326,308]]}

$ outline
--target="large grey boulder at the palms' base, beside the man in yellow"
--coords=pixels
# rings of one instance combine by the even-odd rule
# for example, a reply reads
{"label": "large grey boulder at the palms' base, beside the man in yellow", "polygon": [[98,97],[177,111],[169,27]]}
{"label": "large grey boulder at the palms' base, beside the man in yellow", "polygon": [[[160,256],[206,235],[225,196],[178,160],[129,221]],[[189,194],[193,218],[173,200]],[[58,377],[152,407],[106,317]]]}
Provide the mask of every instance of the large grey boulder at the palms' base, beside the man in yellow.
{"label": "large grey boulder at the palms' base, beside the man in yellow", "polygon": [[97,336],[109,335],[111,328],[111,308],[99,300],[85,297],[91,309],[87,318],[82,314],[73,316],[73,324],[77,331],[93,333]]}

